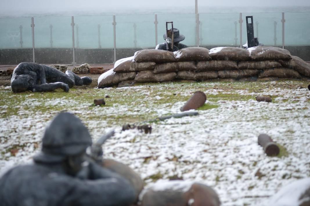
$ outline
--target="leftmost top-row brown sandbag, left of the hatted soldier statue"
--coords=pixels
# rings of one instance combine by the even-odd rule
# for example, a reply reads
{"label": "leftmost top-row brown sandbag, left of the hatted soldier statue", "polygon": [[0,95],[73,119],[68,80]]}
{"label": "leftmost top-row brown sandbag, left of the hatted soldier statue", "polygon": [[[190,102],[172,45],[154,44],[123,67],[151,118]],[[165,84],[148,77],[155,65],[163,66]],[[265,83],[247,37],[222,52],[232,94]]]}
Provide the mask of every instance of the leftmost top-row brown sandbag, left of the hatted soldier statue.
{"label": "leftmost top-row brown sandbag, left of the hatted soldier statue", "polygon": [[135,52],[135,61],[170,62],[176,61],[173,52],[160,49],[144,49]]}

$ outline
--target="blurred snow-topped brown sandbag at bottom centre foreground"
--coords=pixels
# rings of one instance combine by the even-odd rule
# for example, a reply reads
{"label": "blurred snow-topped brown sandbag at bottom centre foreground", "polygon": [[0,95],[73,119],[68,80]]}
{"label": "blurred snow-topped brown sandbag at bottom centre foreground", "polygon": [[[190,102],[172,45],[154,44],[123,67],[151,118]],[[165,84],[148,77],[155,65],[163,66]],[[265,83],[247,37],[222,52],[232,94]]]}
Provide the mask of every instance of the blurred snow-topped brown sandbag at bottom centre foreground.
{"label": "blurred snow-topped brown sandbag at bottom centre foreground", "polygon": [[173,180],[157,182],[140,195],[141,206],[219,206],[216,192],[204,184]]}

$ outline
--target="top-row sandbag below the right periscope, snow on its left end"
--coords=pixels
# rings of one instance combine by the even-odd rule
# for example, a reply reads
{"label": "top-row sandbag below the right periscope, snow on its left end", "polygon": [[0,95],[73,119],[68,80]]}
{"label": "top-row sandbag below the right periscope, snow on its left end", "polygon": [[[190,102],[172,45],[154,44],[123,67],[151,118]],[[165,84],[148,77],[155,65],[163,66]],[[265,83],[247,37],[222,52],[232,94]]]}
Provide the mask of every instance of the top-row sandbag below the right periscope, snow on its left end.
{"label": "top-row sandbag below the right periscope, snow on its left end", "polygon": [[250,53],[252,60],[279,60],[279,59],[291,59],[291,54],[288,50],[278,47],[251,47],[246,50]]}

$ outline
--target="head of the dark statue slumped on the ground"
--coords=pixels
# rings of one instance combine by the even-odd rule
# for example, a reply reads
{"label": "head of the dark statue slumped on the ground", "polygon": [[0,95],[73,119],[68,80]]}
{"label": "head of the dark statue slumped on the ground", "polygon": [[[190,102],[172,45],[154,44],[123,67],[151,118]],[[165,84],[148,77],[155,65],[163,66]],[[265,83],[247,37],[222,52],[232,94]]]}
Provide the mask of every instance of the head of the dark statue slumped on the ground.
{"label": "head of the dark statue slumped on the ground", "polygon": [[15,77],[11,79],[11,87],[13,92],[26,91],[33,84],[33,78],[29,74],[15,75]]}

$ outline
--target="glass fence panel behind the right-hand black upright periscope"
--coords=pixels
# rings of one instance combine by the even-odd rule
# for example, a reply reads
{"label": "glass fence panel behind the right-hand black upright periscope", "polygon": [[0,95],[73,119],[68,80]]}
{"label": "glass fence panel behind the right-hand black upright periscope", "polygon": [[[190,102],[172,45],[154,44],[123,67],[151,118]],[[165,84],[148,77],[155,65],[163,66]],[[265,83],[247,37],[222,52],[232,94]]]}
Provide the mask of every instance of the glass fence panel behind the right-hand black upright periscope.
{"label": "glass fence panel behind the right-hand black upright periscope", "polygon": [[254,36],[264,46],[282,46],[282,13],[242,13],[242,44],[246,43],[246,16],[253,16]]}

